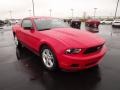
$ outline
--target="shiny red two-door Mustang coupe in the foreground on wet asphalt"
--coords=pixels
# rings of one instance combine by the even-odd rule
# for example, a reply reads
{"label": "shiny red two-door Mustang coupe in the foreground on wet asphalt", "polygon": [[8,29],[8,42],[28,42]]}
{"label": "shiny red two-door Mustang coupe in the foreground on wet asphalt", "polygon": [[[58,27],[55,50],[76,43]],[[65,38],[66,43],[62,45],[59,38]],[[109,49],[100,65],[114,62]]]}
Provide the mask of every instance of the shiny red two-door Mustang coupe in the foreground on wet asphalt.
{"label": "shiny red two-door Mustang coupe in the foreground on wet asphalt", "polygon": [[103,38],[73,29],[60,19],[29,17],[12,29],[16,45],[39,55],[49,70],[94,67],[106,53]]}

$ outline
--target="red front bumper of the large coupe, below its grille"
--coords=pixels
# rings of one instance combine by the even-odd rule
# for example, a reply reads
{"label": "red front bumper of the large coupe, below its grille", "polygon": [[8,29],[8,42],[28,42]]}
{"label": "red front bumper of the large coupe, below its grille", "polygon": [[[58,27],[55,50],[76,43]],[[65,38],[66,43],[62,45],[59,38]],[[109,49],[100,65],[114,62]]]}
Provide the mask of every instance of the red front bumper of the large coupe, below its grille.
{"label": "red front bumper of the large coupe, below its grille", "polygon": [[104,46],[100,52],[82,56],[59,56],[59,67],[65,70],[83,70],[97,65],[106,53]]}

